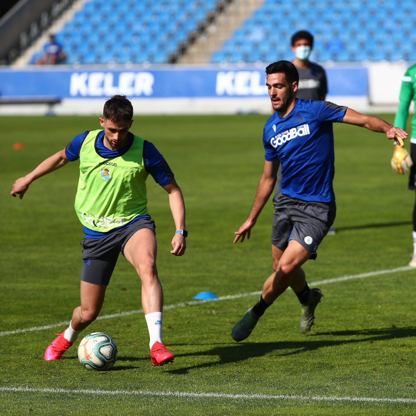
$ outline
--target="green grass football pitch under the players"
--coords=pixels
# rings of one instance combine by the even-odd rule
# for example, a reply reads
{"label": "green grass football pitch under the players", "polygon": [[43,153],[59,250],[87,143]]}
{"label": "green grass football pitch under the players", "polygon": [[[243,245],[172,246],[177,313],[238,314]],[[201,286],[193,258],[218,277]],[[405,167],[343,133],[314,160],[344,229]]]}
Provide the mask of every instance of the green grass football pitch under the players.
{"label": "green grass football pitch under the players", "polygon": [[[257,300],[245,294],[260,291],[272,270],[271,201],[250,240],[232,243],[262,172],[266,119],[135,117],[131,130],[165,156],[187,208],[188,247],[175,258],[169,252],[175,228],[168,197],[149,177],[149,212],[156,221],[158,272],[168,306],[163,335],[175,362],[153,367],[143,314],[120,316],[141,308],[139,278],[120,256],[101,313],[116,316],[88,329],[108,333],[119,349],[114,369],[100,373],[79,364],[77,342],[61,360],[43,360],[64,324],[14,332],[68,322],[79,304],[83,235],[73,209],[78,163],[32,183],[22,201],[10,196],[16,178],[76,134],[99,128],[98,118],[1,118],[0,332],[6,334],[0,337],[0,414],[416,414],[414,270],[322,284],[324,298],[306,335],[288,290],[247,340],[231,339],[231,328]],[[307,262],[307,280],[406,266],[415,195],[407,190],[407,176],[391,172],[391,141],[344,124],[334,124],[334,134],[339,232],[324,239],[316,261]],[[12,149],[16,142],[24,148]],[[241,296],[186,305],[201,291]],[[383,401],[389,398],[413,402]]]}

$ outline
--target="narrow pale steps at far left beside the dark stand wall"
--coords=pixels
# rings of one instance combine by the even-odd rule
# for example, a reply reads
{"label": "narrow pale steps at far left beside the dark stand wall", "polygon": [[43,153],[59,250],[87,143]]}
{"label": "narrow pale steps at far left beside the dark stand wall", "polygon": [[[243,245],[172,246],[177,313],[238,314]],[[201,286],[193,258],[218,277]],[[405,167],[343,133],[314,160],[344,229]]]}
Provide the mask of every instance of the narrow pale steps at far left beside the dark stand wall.
{"label": "narrow pale steps at far left beside the dark stand wall", "polygon": [[43,50],[44,45],[49,41],[49,34],[60,32],[63,29],[65,23],[72,20],[75,13],[81,10],[84,7],[85,3],[89,1],[90,0],[74,1],[71,7],[69,7],[64,13],[62,13],[59,19],[53,22],[52,25],[48,27],[48,29],[45,30],[45,32],[43,32],[42,35],[40,35],[36,42],[33,42],[33,44],[30,45],[30,47],[28,47],[27,50],[25,50],[25,52],[22,53],[22,55],[20,55],[20,57],[17,58],[16,61],[13,62],[13,64],[10,66],[19,68],[29,65],[30,61],[32,60],[33,54],[35,52]]}

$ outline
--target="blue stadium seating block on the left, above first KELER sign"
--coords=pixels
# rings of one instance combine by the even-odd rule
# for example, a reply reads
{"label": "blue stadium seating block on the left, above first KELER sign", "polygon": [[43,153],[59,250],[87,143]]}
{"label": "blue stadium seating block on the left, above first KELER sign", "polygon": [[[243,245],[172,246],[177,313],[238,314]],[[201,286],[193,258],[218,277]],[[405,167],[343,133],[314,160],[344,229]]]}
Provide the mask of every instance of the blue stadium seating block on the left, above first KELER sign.
{"label": "blue stadium seating block on the left, above first KELER sign", "polygon": [[[168,63],[218,0],[92,0],[55,39],[67,64]],[[36,52],[32,63],[42,55]]]}

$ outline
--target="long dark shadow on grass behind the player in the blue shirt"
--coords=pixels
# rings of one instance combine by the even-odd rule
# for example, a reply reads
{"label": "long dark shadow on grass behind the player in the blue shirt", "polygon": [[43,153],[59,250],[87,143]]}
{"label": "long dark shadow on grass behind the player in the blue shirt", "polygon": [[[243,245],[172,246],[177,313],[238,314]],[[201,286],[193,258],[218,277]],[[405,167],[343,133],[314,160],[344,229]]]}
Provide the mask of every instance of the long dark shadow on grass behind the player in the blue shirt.
{"label": "long dark shadow on grass behind the player in the blue shirt", "polygon": [[[312,337],[354,337],[354,339],[319,339],[313,340]],[[193,352],[190,354],[175,354],[176,358],[190,356],[215,356],[215,361],[205,362],[180,369],[168,370],[171,374],[187,374],[191,369],[210,367],[213,365],[239,362],[253,357],[262,357],[270,352],[275,352],[277,356],[290,356],[301,354],[302,352],[313,351],[322,347],[337,347],[341,344],[355,344],[358,342],[375,342],[386,339],[397,339],[414,337],[416,327],[405,328],[380,328],[380,329],[359,329],[347,331],[334,331],[313,334],[305,337],[305,341],[284,341],[284,342],[233,342],[223,347],[214,347],[206,352]],[[357,338],[355,338],[357,337]],[[217,359],[219,357],[219,361]]]}

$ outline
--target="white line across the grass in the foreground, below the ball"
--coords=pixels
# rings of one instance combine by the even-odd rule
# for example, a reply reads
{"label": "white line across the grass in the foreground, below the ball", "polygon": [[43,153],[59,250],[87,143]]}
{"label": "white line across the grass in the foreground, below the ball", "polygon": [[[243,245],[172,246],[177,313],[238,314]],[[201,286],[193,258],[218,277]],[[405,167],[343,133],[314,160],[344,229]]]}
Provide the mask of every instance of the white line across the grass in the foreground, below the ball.
{"label": "white line across the grass in the foreground, below the ball", "polygon": [[89,389],[31,389],[29,387],[0,387],[0,391],[91,394],[101,396],[172,396],[172,397],[208,397],[215,399],[274,399],[274,400],[314,400],[314,401],[366,401],[373,403],[416,403],[416,399],[389,397],[336,397],[336,396],[301,396],[299,394],[226,394],[226,393],[192,393],[181,391],[146,391],[146,390],[89,390]]}

